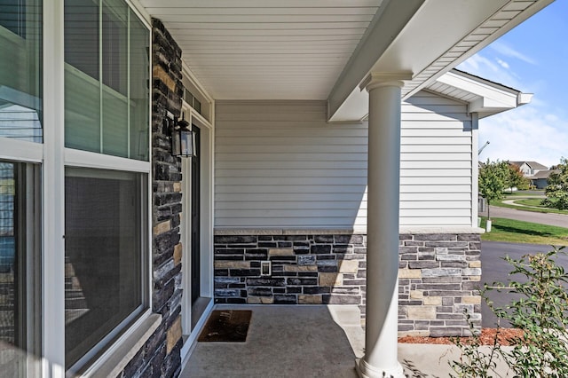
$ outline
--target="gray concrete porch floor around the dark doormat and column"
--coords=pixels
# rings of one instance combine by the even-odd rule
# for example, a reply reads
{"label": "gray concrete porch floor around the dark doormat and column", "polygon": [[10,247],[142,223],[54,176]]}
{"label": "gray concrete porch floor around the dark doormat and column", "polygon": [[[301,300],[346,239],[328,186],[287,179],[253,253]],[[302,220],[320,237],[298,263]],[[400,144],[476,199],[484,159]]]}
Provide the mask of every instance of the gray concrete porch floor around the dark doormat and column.
{"label": "gray concrete porch floor around the dark doormat and column", "polygon": [[[216,309],[253,311],[247,342],[196,343],[180,377],[357,377],[355,358],[365,347],[357,306]],[[448,345],[398,344],[398,360],[408,377],[447,377],[453,373],[447,361],[459,357],[460,351]]]}

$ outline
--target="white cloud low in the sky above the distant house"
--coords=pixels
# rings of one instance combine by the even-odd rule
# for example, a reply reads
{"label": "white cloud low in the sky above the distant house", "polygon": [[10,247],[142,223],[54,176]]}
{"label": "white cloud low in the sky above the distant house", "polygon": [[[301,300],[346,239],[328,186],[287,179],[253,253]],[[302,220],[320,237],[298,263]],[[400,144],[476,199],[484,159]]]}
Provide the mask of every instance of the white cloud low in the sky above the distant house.
{"label": "white cloud low in the sky above the distant house", "polygon": [[550,166],[568,154],[568,122],[529,104],[481,120],[479,145],[486,140],[490,145],[479,156],[480,161],[527,160]]}

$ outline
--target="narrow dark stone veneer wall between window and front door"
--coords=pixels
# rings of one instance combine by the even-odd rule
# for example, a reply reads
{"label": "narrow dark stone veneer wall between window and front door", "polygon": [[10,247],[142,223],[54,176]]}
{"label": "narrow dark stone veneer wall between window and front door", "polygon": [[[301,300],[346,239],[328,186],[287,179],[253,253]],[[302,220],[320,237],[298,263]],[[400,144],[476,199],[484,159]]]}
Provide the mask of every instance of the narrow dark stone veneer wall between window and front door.
{"label": "narrow dark stone veneer wall between window and front door", "polygon": [[179,117],[183,93],[181,50],[162,22],[153,20],[153,245],[152,311],[162,323],[122,371],[122,377],[177,376],[181,369],[181,161],[171,156],[166,112]]}

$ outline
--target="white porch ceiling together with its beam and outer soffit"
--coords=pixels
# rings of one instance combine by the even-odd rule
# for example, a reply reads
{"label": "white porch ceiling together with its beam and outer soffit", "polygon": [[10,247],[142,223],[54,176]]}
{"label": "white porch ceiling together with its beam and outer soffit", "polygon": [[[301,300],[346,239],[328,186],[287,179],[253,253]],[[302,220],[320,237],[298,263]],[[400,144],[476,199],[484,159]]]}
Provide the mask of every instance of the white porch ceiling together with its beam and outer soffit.
{"label": "white porch ceiling together with its beam and outer soffit", "polygon": [[367,114],[370,72],[406,72],[410,96],[553,0],[139,0],[216,99],[327,100]]}

